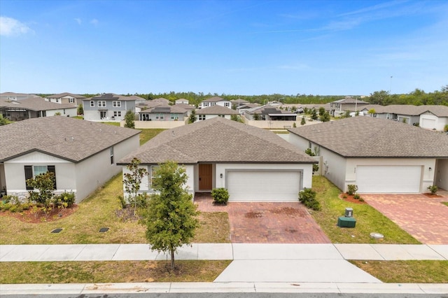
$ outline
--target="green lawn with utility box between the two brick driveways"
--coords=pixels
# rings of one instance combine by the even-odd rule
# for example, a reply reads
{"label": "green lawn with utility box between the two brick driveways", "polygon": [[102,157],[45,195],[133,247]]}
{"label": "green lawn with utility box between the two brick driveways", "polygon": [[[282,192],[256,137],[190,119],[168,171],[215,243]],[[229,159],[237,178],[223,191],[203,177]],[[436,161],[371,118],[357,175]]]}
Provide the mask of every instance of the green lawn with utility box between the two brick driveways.
{"label": "green lawn with utility box between the two brick driveways", "polygon": [[[353,204],[339,199],[341,191],[323,176],[313,177],[313,190],[321,203],[321,211],[309,211],[332,243],[402,243],[419,244],[394,222],[367,204]],[[356,227],[338,227],[337,218],[344,215],[345,208],[353,208]],[[384,235],[381,241],[372,239],[370,233]]]}

